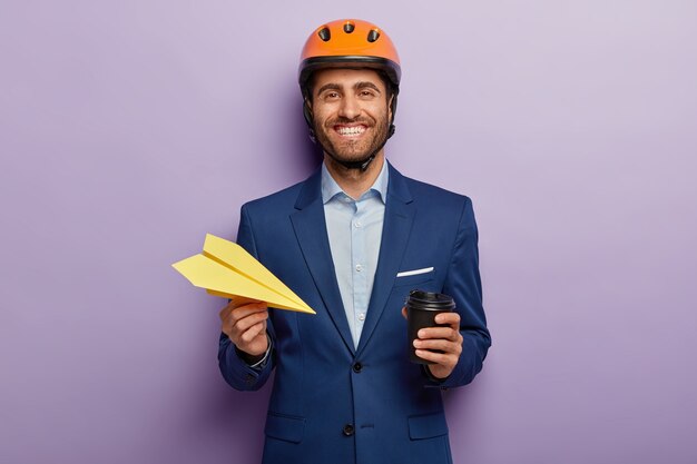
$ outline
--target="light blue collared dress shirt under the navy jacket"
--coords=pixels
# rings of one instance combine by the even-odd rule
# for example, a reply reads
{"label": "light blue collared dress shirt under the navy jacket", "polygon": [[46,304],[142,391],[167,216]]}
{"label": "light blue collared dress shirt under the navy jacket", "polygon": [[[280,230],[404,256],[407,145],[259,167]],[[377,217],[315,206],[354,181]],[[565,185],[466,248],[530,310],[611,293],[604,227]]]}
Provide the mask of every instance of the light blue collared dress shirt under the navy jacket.
{"label": "light blue collared dress shirt under the navy jacket", "polygon": [[341,298],[354,347],[367,316],[373,292],[387,198],[387,161],[373,186],[353,199],[322,165],[322,201]]}

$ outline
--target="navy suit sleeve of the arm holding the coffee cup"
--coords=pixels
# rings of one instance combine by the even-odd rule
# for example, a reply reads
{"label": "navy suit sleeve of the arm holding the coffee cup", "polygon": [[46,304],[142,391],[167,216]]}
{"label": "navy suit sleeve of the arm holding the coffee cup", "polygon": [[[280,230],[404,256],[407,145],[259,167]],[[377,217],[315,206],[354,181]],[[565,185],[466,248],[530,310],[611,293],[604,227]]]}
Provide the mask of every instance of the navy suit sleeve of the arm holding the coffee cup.
{"label": "navy suit sleeve of the arm holding the coffee cup", "polygon": [[443,293],[451,295],[460,314],[462,354],[452,374],[431,384],[440,387],[467,385],[481,371],[491,336],[482,306],[482,284],[479,274],[478,230],[472,201],[467,198],[463,205],[458,236],[445,275]]}

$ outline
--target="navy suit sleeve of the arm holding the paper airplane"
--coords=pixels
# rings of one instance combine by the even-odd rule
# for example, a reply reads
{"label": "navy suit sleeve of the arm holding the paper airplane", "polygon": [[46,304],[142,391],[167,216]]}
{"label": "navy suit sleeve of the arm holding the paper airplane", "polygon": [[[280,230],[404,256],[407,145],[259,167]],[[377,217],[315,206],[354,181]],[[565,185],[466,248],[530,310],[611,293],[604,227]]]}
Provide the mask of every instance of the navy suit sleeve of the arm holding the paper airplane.
{"label": "navy suit sleeve of the arm holding the paper airplane", "polygon": [[[254,234],[252,231],[252,221],[247,213],[246,206],[242,207],[239,215],[239,230],[237,231],[237,244],[246,249],[252,256],[258,258],[256,244],[254,241]],[[271,375],[274,368],[275,353],[273,346],[275,345],[274,330],[271,324],[271,318],[267,319],[266,329],[271,338],[272,352],[268,355],[266,363],[259,367],[252,367],[245,363],[235,349],[235,345],[225,334],[220,334],[220,340],[218,346],[218,365],[220,373],[233,388],[239,391],[255,391],[259,389]]]}

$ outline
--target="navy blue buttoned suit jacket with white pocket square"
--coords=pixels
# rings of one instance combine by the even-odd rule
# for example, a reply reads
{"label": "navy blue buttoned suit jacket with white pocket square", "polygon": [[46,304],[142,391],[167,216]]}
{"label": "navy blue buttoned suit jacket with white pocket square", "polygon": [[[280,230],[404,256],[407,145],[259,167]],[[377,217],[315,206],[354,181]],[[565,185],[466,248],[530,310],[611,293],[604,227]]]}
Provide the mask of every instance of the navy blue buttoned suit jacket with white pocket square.
{"label": "navy blue buttoned suit jacket with white pocket square", "polygon": [[[220,371],[233,387],[257,389],[276,369],[264,463],[452,462],[441,388],[471,382],[490,346],[477,237],[469,198],[390,166],[373,294],[354,348],[330,250],[320,171],[243,206],[239,245],[317,312],[269,309],[273,353],[261,371],[220,338]],[[396,277],[429,267],[433,272]],[[453,296],[460,313],[463,351],[444,382],[408,361],[401,309],[413,288]]]}

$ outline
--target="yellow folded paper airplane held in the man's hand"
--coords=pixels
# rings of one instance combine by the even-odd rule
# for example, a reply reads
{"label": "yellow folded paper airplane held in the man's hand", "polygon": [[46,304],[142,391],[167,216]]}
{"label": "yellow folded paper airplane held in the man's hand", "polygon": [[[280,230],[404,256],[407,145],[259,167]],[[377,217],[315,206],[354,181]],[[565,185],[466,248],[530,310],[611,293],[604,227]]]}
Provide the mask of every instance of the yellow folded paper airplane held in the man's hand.
{"label": "yellow folded paper airplane held in the man's hand", "polygon": [[215,235],[206,234],[203,254],[171,266],[210,295],[256,299],[279,309],[316,314],[243,247]]}

